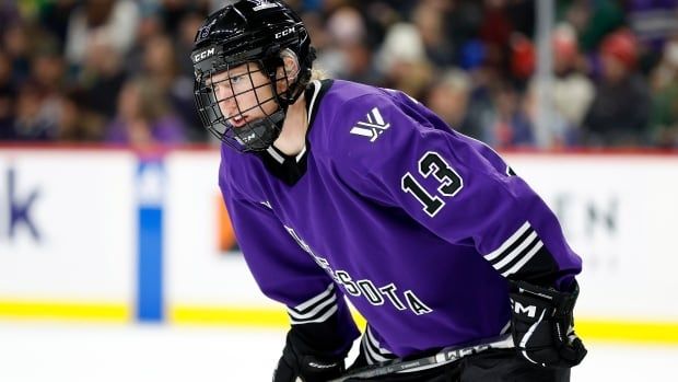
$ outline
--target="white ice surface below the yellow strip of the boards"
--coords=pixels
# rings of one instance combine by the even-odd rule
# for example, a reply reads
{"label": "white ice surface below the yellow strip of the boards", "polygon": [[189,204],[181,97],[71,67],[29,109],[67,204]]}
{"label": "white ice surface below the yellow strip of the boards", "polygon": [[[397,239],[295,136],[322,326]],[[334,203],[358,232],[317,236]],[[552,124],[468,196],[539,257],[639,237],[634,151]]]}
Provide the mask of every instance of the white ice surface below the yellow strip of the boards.
{"label": "white ice surface below the yellow strip of the boards", "polygon": [[[270,381],[283,340],[277,329],[0,321],[0,381]],[[587,346],[572,381],[678,381],[678,346]]]}

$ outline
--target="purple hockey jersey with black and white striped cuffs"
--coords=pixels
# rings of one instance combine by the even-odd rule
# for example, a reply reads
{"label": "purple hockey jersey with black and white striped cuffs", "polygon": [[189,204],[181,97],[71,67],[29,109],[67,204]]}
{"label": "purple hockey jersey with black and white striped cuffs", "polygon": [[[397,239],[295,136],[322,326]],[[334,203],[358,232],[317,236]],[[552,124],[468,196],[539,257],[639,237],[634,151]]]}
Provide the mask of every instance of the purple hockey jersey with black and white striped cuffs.
{"label": "purple hockey jersey with black and white striped cuffs", "polygon": [[372,359],[402,357],[505,331],[506,278],[562,287],[581,270],[535,192],[417,101],[339,80],[306,101],[304,152],[224,146],[220,167],[245,259],[292,325],[337,314],[350,344],[346,296]]}

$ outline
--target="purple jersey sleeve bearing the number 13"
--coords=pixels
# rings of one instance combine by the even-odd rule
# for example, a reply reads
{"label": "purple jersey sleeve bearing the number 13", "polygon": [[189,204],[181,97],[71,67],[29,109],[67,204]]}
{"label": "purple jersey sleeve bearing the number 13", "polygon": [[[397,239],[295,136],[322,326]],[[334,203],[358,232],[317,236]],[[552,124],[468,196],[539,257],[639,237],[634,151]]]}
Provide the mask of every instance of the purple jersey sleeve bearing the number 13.
{"label": "purple jersey sleeve bearing the number 13", "polygon": [[414,101],[373,94],[344,107],[351,112],[337,124],[347,131],[375,111],[372,120],[387,126],[373,140],[343,135],[337,169],[347,184],[452,244],[475,246],[505,278],[569,288],[581,258],[554,213],[496,152]]}

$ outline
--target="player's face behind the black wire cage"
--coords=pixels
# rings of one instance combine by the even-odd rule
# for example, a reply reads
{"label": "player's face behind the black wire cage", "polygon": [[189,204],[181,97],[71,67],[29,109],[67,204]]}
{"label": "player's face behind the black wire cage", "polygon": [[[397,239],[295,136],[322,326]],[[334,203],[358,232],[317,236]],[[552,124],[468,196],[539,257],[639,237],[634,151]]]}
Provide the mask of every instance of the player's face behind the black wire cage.
{"label": "player's face behind the black wire cage", "polygon": [[244,63],[212,77],[219,108],[226,121],[243,127],[278,109],[270,80],[256,63]]}

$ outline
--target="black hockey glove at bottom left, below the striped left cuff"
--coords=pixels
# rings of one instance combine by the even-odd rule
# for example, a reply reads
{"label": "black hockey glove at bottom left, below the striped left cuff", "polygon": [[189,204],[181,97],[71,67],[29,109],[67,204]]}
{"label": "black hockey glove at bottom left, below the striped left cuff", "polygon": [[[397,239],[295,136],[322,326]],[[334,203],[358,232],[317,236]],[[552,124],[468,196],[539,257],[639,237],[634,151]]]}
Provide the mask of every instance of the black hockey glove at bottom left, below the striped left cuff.
{"label": "black hockey glove at bottom left, below the striped left cuff", "polygon": [[325,382],[340,377],[344,371],[343,357],[300,355],[289,337],[282,357],[273,371],[273,382]]}

